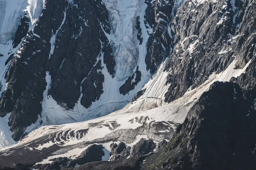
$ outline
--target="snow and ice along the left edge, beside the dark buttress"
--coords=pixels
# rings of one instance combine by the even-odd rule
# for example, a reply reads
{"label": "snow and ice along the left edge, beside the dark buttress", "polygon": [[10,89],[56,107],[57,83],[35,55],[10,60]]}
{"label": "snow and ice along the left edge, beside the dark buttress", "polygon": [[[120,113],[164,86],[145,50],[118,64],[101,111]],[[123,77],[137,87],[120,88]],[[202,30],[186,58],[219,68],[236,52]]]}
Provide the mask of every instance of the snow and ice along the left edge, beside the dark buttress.
{"label": "snow and ice along the left edge, beside the dark buttress", "polygon": [[[20,24],[20,19],[25,11],[28,12],[31,21],[29,29],[32,30],[41,14],[44,1],[45,0],[0,0],[0,54],[3,55],[0,57],[0,82],[2,85],[0,95],[6,90],[7,86],[4,77],[10,62],[7,64],[5,64],[5,62],[11,55],[15,57],[23,41],[22,40],[16,48],[12,47],[12,38],[15,36],[18,25]],[[37,34],[34,35],[40,37]],[[17,53],[19,53],[19,51]],[[17,57],[19,58],[18,54]],[[0,148],[17,143],[12,139],[12,132],[7,125],[9,116],[8,114],[3,118],[0,117]]]}

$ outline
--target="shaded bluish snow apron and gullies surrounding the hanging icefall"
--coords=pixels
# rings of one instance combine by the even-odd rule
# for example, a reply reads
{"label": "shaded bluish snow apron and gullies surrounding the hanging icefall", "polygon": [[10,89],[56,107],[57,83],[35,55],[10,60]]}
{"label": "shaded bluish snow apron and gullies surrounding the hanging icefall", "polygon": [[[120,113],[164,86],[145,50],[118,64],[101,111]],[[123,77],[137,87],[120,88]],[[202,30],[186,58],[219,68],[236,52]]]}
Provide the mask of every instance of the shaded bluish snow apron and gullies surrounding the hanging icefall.
{"label": "shaded bluish snow apron and gullies surrounding the hanging icefall", "polygon": [[[135,12],[135,11],[133,11],[133,10],[135,10],[135,8],[131,7],[131,6],[129,7],[129,4],[133,5],[136,2],[141,3],[140,4],[141,8],[136,9],[136,12]],[[108,2],[108,3],[110,3],[110,2]],[[120,2],[113,1],[113,3],[120,3]],[[141,23],[143,23],[145,9],[147,7],[146,4],[144,3],[144,1],[142,1],[142,0],[134,1],[133,3],[127,2],[127,1],[122,1],[122,4],[118,4],[118,5],[120,6],[120,8],[121,7],[125,8],[123,11],[123,14],[124,13],[127,13],[127,14],[128,13],[134,13],[134,14],[136,13],[136,16],[140,16]],[[132,14],[133,17],[134,17],[134,14]],[[119,23],[119,25],[122,28],[125,28],[126,24],[128,24],[128,23],[131,24],[131,22],[135,19],[133,17],[132,18],[128,17],[128,19],[123,19],[123,22]],[[118,18],[119,18],[119,16],[118,16]],[[129,22],[127,21],[128,23],[126,23],[125,22],[126,20],[128,20]],[[62,24],[63,23],[64,23],[64,20],[62,21]],[[129,24],[128,24],[128,26],[131,27]],[[60,28],[61,28],[61,26],[60,26]],[[134,90],[131,90],[125,96],[119,93],[119,88],[125,83],[126,79],[120,80],[119,77],[112,77],[112,75],[109,74],[105,63],[103,62],[104,53],[102,53],[102,51],[100,51],[100,53],[97,57],[97,62],[101,62],[101,64],[102,64],[102,68],[99,71],[101,71],[102,74],[104,75],[104,83],[103,83],[104,93],[100,96],[99,100],[97,100],[96,102],[93,102],[92,105],[90,106],[90,108],[84,108],[80,102],[81,97],[82,97],[82,93],[81,93],[81,96],[79,97],[79,100],[76,103],[76,106],[74,107],[74,109],[67,110],[65,107],[58,105],[57,102],[54,99],[52,99],[51,96],[49,96],[47,94],[47,91],[49,91],[50,84],[51,84],[51,77],[49,76],[49,72],[47,72],[47,75],[46,75],[47,87],[46,87],[46,90],[44,91],[44,99],[42,102],[42,108],[43,108],[43,111],[41,113],[42,117],[39,117],[38,121],[35,124],[32,124],[31,126],[29,126],[27,128],[26,132],[29,132],[33,129],[40,127],[41,126],[40,121],[44,122],[42,125],[60,125],[60,124],[70,123],[70,122],[80,122],[80,121],[84,121],[84,120],[93,119],[93,118],[96,118],[99,116],[105,116],[108,113],[111,113],[113,111],[117,111],[117,110],[123,108],[125,105],[127,105],[129,102],[131,102],[134,95],[141,88],[143,88],[143,85],[145,85],[145,83],[148,82],[148,79],[150,78],[150,73],[146,70],[146,65],[145,65],[146,42],[148,40],[148,33],[147,33],[148,29],[145,28],[144,24],[141,25],[141,28],[142,28],[142,36],[143,36],[144,41],[143,41],[142,45],[139,45],[138,41],[133,42],[133,45],[135,46],[134,48],[136,48],[136,51],[137,51],[137,61],[135,62],[135,65],[132,66],[132,73],[128,74],[129,76],[130,76],[130,74],[133,74],[136,71],[137,66],[139,66],[139,71],[141,71],[141,73],[142,73],[141,81],[136,85]],[[116,28],[113,28],[113,29],[116,29]],[[129,35],[131,37],[131,40],[133,40],[133,37],[137,37],[137,35],[133,35],[132,31],[129,32],[129,30],[127,30],[126,33],[127,33],[127,36]],[[105,33],[105,34],[106,34],[106,36],[108,36],[109,39],[111,38],[111,36],[113,36],[113,34],[107,34],[107,33]],[[121,34],[121,33],[118,32],[117,34]],[[122,35],[120,35],[120,36],[122,37]],[[120,39],[122,39],[122,38],[120,38]],[[53,34],[51,40],[52,40],[52,48],[51,49],[53,49],[55,34]],[[127,40],[129,42],[129,39],[127,39]],[[125,42],[124,42],[124,44],[125,44]],[[119,45],[122,46],[121,44],[119,44]],[[130,62],[130,61],[125,64],[133,65],[132,62]],[[120,71],[122,72],[122,69],[121,70],[117,69],[116,73],[121,74]],[[85,79],[86,79],[86,77],[81,82],[81,85]],[[81,89],[81,91],[82,91],[82,89]],[[109,95],[109,94],[111,94],[111,95]],[[65,106],[65,104],[63,104],[63,105]]]}

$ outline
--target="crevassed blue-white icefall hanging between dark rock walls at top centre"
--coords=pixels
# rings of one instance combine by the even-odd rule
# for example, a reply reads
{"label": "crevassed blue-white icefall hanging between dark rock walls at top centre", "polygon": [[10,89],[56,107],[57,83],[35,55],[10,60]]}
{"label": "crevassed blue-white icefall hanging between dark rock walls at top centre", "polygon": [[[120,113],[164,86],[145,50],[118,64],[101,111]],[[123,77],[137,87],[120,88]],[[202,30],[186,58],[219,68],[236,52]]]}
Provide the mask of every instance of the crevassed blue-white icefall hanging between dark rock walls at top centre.
{"label": "crevassed blue-white icefall hanging between dark rock walls at top centre", "polygon": [[111,34],[107,37],[113,49],[116,49],[114,52],[116,79],[122,81],[133,73],[138,61],[134,24],[137,13],[143,9],[144,2],[143,0],[103,0],[103,3],[108,9],[111,23]]}

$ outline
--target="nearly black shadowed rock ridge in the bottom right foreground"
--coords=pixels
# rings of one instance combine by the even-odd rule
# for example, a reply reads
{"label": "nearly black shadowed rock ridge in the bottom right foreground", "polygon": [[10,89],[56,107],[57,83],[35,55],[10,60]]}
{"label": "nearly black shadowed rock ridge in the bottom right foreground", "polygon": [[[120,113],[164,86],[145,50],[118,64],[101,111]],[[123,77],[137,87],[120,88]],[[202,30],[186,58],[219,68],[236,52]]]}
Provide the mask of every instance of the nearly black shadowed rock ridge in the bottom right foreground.
{"label": "nearly black shadowed rock ridge in the bottom right foreground", "polygon": [[[149,158],[143,168],[253,170],[255,139],[251,136],[256,136],[256,117],[249,94],[255,95],[255,90],[247,91],[234,83],[213,84],[189,111],[167,147]],[[157,157],[162,162],[154,161]]]}

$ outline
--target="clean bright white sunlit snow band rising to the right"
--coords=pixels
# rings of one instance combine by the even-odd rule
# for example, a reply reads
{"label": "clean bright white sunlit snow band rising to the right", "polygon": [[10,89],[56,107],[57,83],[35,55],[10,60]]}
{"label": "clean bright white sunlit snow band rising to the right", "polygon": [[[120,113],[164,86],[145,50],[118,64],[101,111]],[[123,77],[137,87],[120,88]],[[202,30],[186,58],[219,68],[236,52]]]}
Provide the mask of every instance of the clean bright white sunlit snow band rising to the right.
{"label": "clean bright white sunlit snow band rising to the right", "polygon": [[[143,110],[140,111],[136,107],[136,103],[140,103],[140,100],[136,101],[134,104],[129,104],[125,106],[122,110],[116,111],[114,113],[111,113],[107,116],[103,116],[97,119],[88,120],[85,122],[79,122],[79,123],[71,123],[71,124],[65,124],[65,125],[59,125],[54,126],[56,130],[65,130],[65,129],[73,129],[73,130],[79,130],[79,129],[86,129],[89,128],[87,135],[86,135],[86,141],[91,141],[93,139],[98,139],[104,137],[106,134],[111,133],[112,130],[110,130],[107,126],[100,126],[100,127],[90,127],[90,124],[93,122],[104,122],[108,123],[111,121],[116,121],[120,126],[117,129],[135,129],[139,126],[141,126],[140,123],[134,122],[133,124],[129,122],[129,120],[140,117],[140,116],[148,116],[149,119],[146,122],[151,122],[152,120],[156,122],[161,121],[173,121],[177,123],[182,123],[186,117],[187,112],[189,109],[193,106],[193,104],[199,99],[201,94],[203,94],[205,91],[207,91],[215,81],[229,81],[231,77],[238,77],[242,73],[244,73],[245,69],[250,65],[251,60],[247,63],[247,65],[243,69],[234,69],[236,64],[236,59],[230,64],[230,66],[223,71],[220,74],[212,74],[209,79],[204,82],[201,86],[198,88],[188,91],[183,97],[169,103],[166,105],[162,105],[158,108],[153,108],[150,110]],[[141,103],[140,103],[141,104]],[[102,123],[103,124],[103,123]],[[44,133],[49,134],[52,133],[52,130],[49,130],[52,126],[43,126],[40,127],[37,130],[32,131],[29,133],[28,137],[23,139],[20,143],[27,142],[27,140],[34,139],[38,136],[38,133]],[[97,133],[100,131],[101,133]],[[75,140],[72,141],[74,144]],[[76,141],[81,142],[81,141]],[[76,143],[75,142],[75,143]],[[65,145],[65,144],[64,144]]]}

